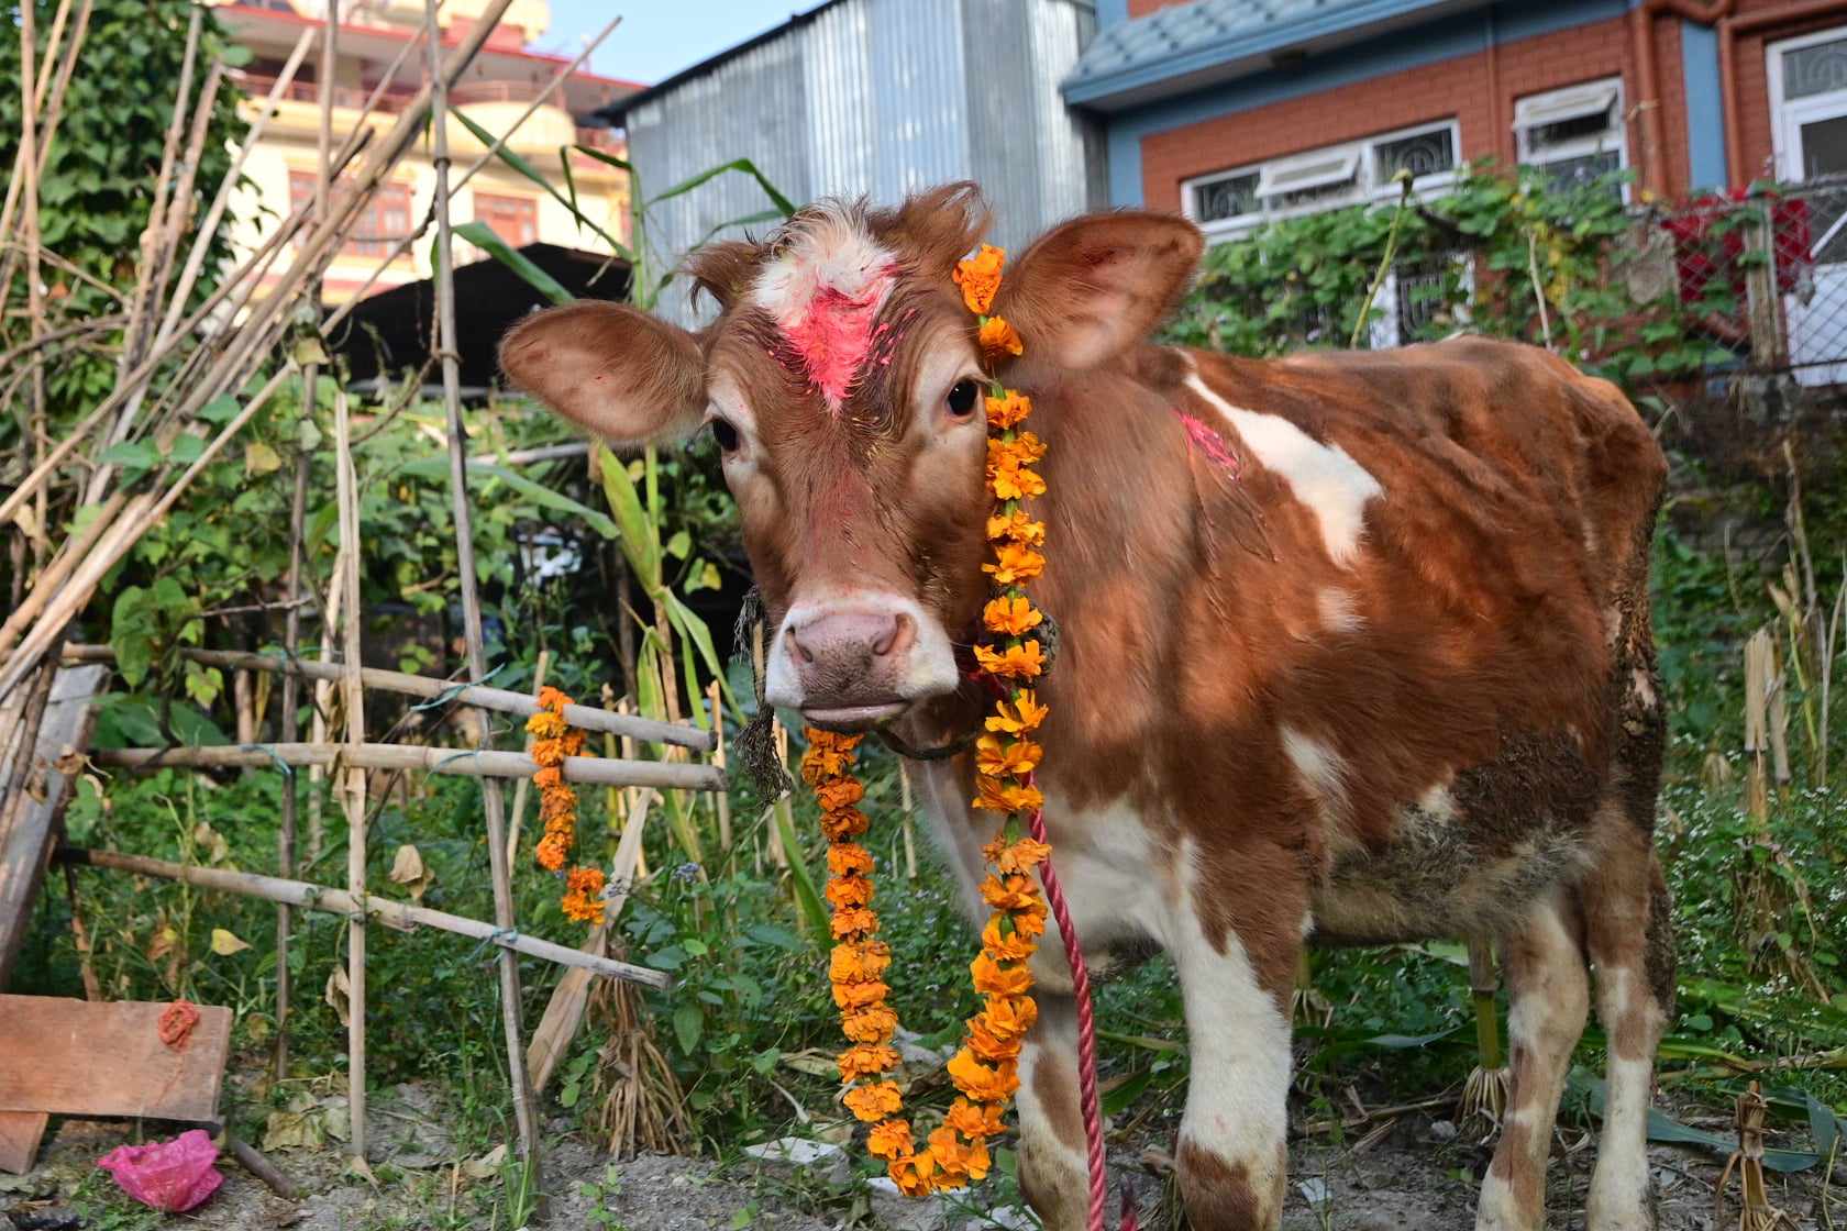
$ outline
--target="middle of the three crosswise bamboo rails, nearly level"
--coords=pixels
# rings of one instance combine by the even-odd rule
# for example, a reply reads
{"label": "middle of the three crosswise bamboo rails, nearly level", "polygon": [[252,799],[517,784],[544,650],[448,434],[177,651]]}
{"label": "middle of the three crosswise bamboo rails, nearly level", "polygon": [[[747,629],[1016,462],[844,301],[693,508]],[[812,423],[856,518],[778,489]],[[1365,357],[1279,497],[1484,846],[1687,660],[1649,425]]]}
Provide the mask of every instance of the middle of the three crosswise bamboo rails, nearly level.
{"label": "middle of the three crosswise bamboo rails, nearly level", "polygon": [[[207,747],[98,747],[91,760],[113,770],[251,770],[262,766],[347,766],[414,770],[480,779],[519,779],[539,771],[525,753],[414,744],[212,744]],[[585,786],[654,786],[656,790],[724,790],[724,771],[674,760],[565,757],[567,783]]]}

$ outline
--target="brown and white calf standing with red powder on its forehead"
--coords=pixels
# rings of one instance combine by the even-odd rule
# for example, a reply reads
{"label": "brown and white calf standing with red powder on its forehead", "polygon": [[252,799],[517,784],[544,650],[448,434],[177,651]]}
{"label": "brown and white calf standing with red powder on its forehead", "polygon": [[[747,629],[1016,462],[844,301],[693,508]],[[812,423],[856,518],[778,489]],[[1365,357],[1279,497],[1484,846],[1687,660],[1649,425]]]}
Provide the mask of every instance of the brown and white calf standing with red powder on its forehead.
{"label": "brown and white calf standing with red powder on its forehead", "polygon": [[[957,648],[986,592],[984,369],[951,268],[984,223],[966,185],[815,207],[691,262],[722,310],[702,332],[576,305],[502,345],[513,382],[617,445],[711,424],[776,629],[768,696],[809,722],[911,746],[979,722]],[[1522,345],[1154,345],[1199,253],[1177,218],[1079,218],[1008,264],[996,305],[1025,340],[999,375],[1049,445],[1045,818],[1086,952],[1160,945],[1178,971],[1191,1224],[1280,1218],[1302,945],[1478,936],[1513,1002],[1478,1227],[1544,1224],[1587,963],[1611,1039],[1588,1222],[1648,1227],[1673,997],[1651,843],[1660,450],[1612,386]],[[973,768],[922,777],[975,914]],[[1058,945],[1034,963],[1020,1179],[1045,1225],[1080,1227],[1069,971]]]}

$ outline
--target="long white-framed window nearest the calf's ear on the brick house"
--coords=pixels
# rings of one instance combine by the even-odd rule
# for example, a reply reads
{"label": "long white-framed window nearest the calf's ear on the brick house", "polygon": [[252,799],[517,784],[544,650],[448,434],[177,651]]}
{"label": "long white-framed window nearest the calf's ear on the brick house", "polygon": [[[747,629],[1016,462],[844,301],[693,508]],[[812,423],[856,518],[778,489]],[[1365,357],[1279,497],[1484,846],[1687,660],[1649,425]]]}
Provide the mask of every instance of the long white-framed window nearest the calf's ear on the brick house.
{"label": "long white-framed window nearest the calf's ear on the brick house", "polygon": [[1291,214],[1311,214],[1359,201],[1398,197],[1398,172],[1411,173],[1418,190],[1444,188],[1455,179],[1455,120],[1382,133],[1324,149],[1230,172],[1213,172],[1182,185],[1182,209],[1208,238],[1232,238],[1250,227]]}

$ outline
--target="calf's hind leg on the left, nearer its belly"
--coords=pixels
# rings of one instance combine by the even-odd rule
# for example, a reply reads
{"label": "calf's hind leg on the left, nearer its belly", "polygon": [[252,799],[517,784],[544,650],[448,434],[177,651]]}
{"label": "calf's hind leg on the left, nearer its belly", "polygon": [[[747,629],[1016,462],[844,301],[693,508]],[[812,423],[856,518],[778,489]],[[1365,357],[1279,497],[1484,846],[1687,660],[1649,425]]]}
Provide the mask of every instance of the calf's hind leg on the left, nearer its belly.
{"label": "calf's hind leg on the left, nearer its belly", "polygon": [[1590,1011],[1575,902],[1563,891],[1533,902],[1502,938],[1502,962],[1513,1091],[1481,1179],[1476,1231],[1542,1231],[1551,1124]]}

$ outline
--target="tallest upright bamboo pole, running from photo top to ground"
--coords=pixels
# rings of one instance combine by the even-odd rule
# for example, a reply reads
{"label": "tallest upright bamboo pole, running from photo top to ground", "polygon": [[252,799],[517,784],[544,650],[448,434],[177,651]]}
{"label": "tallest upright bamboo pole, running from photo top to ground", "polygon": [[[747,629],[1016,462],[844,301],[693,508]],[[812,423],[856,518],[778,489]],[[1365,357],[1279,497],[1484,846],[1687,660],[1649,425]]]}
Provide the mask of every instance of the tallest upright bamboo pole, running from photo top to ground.
{"label": "tallest upright bamboo pole, running from photo top to ground", "polygon": [[[423,0],[423,24],[430,41],[430,164],[436,172],[436,353],[443,367],[443,406],[449,421],[449,498],[456,530],[456,572],[462,583],[462,635],[467,642],[467,672],[471,683],[488,677],[488,655],[480,635],[480,596],[475,591],[475,519],[467,500],[467,432],[462,426],[462,356],[456,347],[456,284],[454,249],[449,229],[449,83],[440,63],[441,37],[436,26],[436,0]],[[491,725],[486,712],[477,712],[480,736],[477,744],[491,744]],[[488,871],[493,877],[493,921],[501,928],[513,926],[513,873],[506,858],[506,801],[501,784],[484,779],[480,797],[488,823]],[[501,1026],[506,1034],[506,1076],[513,1096],[513,1122],[519,1129],[519,1155],[526,1165],[526,1183],[543,1194],[539,1163],[539,1111],[532,1096],[532,1074],[526,1072],[525,1028],[519,1021],[519,958],[501,950]],[[543,1196],[541,1207],[543,1207]]]}

